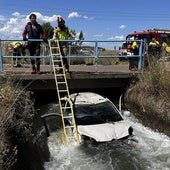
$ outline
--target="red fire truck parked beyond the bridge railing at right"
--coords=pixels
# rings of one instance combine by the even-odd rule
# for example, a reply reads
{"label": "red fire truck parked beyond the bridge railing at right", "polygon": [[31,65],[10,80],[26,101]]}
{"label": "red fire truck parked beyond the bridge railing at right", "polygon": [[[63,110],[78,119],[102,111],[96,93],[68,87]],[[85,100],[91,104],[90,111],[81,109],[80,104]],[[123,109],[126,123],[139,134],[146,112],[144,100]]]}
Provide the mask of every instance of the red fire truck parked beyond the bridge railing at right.
{"label": "red fire truck parked beyond the bridge railing at right", "polygon": [[[135,40],[135,38],[138,38],[138,40],[143,40],[145,44],[149,44],[152,40],[152,38],[155,38],[160,45],[163,43],[165,44],[165,50],[170,53],[170,30],[168,29],[148,29],[147,31],[139,31],[139,32],[133,32],[131,34],[128,34],[126,36],[126,42],[123,43],[122,47],[124,51],[126,50],[126,53],[122,55],[133,55],[132,53],[132,42]],[[169,49],[169,50],[168,50]]]}

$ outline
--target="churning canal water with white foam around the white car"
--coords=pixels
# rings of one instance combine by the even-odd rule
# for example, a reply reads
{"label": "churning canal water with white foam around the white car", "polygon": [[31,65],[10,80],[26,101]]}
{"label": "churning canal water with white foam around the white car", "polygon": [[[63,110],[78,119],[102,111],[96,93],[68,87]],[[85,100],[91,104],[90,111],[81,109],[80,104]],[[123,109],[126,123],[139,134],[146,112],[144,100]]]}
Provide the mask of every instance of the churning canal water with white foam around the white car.
{"label": "churning canal water with white foam around the white car", "polygon": [[[47,114],[57,111],[57,107],[51,102],[39,109],[41,114]],[[125,119],[132,125],[134,136],[109,143],[65,147],[58,128],[48,138],[51,159],[45,162],[45,170],[169,170],[170,138],[143,126],[132,113]]]}

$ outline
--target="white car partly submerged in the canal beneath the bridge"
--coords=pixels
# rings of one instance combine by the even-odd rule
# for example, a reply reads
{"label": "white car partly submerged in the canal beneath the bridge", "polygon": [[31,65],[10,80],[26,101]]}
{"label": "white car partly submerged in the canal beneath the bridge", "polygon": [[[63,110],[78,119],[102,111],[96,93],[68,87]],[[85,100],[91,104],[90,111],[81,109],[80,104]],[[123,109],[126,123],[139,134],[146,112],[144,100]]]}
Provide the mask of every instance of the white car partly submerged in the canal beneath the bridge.
{"label": "white car partly submerged in the canal beneath the bridge", "polygon": [[107,142],[133,133],[131,125],[108,98],[96,93],[81,92],[72,94],[71,99],[81,139]]}

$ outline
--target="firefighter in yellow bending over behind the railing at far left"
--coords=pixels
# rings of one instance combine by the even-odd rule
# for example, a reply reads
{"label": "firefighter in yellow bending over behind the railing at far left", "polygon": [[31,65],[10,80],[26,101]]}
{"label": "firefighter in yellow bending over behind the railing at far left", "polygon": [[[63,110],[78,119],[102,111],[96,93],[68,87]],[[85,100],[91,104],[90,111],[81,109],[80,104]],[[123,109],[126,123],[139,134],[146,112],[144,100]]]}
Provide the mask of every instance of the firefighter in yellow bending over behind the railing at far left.
{"label": "firefighter in yellow bending over behind the railing at far left", "polygon": [[[8,51],[12,56],[25,56],[25,46],[22,42],[13,41],[8,44]],[[21,58],[13,58],[14,67],[21,67]]]}

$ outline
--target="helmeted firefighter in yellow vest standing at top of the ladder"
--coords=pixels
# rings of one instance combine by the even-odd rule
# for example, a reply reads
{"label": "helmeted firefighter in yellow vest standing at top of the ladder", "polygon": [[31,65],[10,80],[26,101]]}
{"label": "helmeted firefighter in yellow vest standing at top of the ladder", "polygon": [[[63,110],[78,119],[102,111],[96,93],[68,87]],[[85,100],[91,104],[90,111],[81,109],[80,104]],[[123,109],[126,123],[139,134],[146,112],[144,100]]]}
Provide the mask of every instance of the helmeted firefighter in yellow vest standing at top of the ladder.
{"label": "helmeted firefighter in yellow vest standing at top of the ladder", "polygon": [[[69,37],[74,38],[74,34],[71,30],[65,26],[65,20],[62,17],[58,17],[57,19],[58,27],[54,28],[53,40],[68,40]],[[65,70],[69,71],[69,65],[67,58],[67,42],[59,42],[61,55],[63,56],[63,64],[65,66]],[[61,63],[59,63],[59,67],[61,67]]]}

